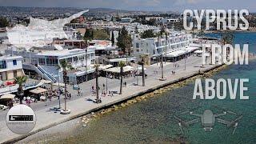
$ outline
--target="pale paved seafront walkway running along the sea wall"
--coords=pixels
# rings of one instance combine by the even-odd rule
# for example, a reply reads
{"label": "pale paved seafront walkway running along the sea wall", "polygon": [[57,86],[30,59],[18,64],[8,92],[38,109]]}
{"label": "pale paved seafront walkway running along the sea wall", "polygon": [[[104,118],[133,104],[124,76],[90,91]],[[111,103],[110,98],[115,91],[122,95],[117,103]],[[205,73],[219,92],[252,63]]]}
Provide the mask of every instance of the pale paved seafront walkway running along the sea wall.
{"label": "pale paved seafront walkway running along the sea wall", "polygon": [[[90,95],[90,87],[94,85],[94,81],[92,80],[90,82],[85,82],[80,85],[80,87],[83,90],[83,96],[77,97],[77,90],[72,90],[71,86],[69,86],[69,91],[71,94],[73,94],[72,100],[67,102],[67,108],[71,110],[70,114],[62,115],[59,113],[54,113],[53,111],[49,111],[49,108],[51,107],[58,107],[58,101],[54,101],[52,103],[49,103],[47,106],[31,106],[35,114],[37,115],[37,123],[34,127],[34,130],[30,132],[30,134],[34,134],[40,130],[45,130],[51,126],[55,126],[59,123],[66,122],[73,118],[78,118],[79,116],[82,116],[84,114],[88,114],[90,112],[93,112],[95,110],[100,110],[106,106],[111,106],[114,103],[122,102],[123,100],[126,100],[127,98],[132,98],[134,96],[137,96],[139,94],[144,94],[150,90],[158,89],[162,86],[166,86],[166,84],[170,84],[172,82],[177,82],[181,78],[187,78],[191,75],[198,74],[198,70],[209,70],[211,68],[214,68],[213,65],[206,65],[204,68],[202,68],[202,58],[198,57],[190,57],[186,60],[186,70],[185,69],[185,62],[184,60],[178,62],[179,67],[176,68],[176,74],[171,74],[171,70],[174,70],[173,63],[167,63],[164,68],[164,75],[166,78],[166,81],[159,81],[158,78],[160,78],[161,75],[161,69],[159,69],[160,65],[154,65],[147,67],[146,73],[148,74],[146,78],[146,86],[142,85],[142,78],[138,79],[138,86],[134,86],[133,83],[136,83],[136,78],[125,78],[124,82],[127,82],[127,86],[123,87],[122,94],[114,94],[114,97],[106,96],[101,97],[102,103],[96,104],[94,102],[86,101],[87,98],[94,99],[94,96]],[[155,70],[158,69],[158,74],[155,74]],[[102,86],[102,83],[106,82],[106,78],[100,78],[100,86]],[[120,82],[118,79],[109,79],[108,82],[109,90],[119,91],[119,85]],[[101,94],[101,90],[100,90]],[[75,98],[74,98],[75,97]],[[191,95],[192,98],[192,95]],[[62,104],[63,106],[63,104]],[[4,114],[0,115],[1,117]],[[15,141],[21,138],[25,138],[27,135],[18,135],[12,133],[8,127],[6,126],[5,118],[1,118],[0,120],[0,143],[2,142],[11,142]]]}

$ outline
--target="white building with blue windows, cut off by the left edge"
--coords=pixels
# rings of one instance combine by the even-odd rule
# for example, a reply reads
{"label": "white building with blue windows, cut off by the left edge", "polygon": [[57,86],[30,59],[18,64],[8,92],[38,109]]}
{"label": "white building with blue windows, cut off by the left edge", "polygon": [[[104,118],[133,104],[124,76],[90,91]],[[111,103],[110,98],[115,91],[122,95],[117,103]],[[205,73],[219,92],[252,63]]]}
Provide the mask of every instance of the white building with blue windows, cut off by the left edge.
{"label": "white building with blue windows, cut off by the left edge", "polygon": [[14,80],[16,77],[24,75],[22,70],[21,56],[0,57],[0,79],[1,81]]}

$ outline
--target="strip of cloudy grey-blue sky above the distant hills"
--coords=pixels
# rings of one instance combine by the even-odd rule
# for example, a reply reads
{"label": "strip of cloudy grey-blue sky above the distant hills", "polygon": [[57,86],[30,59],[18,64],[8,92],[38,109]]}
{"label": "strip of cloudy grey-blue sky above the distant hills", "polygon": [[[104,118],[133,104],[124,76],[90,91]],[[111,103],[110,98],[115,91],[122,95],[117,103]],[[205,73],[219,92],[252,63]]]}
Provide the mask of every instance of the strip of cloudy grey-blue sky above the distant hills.
{"label": "strip of cloudy grey-blue sky above the distant hills", "polygon": [[183,11],[186,9],[247,9],[256,12],[255,0],[0,0],[0,6],[114,8],[118,10]]}

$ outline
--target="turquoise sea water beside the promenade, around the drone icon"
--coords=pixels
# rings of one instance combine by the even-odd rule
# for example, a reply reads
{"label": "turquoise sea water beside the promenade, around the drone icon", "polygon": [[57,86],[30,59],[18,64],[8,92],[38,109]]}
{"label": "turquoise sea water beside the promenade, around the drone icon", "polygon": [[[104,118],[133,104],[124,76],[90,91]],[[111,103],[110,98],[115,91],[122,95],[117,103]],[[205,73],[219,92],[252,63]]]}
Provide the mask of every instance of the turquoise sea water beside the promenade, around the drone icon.
{"label": "turquoise sea water beside the promenade, around the drone icon", "polygon": [[[256,33],[236,33],[235,43],[250,44],[250,52],[256,52]],[[228,66],[212,78],[249,78],[246,84],[249,100],[230,100],[229,93],[225,100],[193,100],[194,82],[181,88],[170,90],[146,102],[138,102],[132,106],[122,108],[106,114],[89,123],[86,128],[79,127],[64,142],[75,143],[170,143],[184,137],[190,143],[256,143],[256,61],[250,61],[249,66]],[[238,91],[239,92],[239,91]],[[239,93],[237,95],[239,97]],[[200,123],[184,129],[182,135],[178,122],[171,114],[179,114],[188,109],[202,114],[203,110],[210,109],[214,113],[221,113],[213,106],[226,108],[242,114],[238,128],[233,129],[216,123],[212,132],[205,132]],[[182,116],[190,120],[195,117]],[[222,116],[232,120],[234,116]]]}

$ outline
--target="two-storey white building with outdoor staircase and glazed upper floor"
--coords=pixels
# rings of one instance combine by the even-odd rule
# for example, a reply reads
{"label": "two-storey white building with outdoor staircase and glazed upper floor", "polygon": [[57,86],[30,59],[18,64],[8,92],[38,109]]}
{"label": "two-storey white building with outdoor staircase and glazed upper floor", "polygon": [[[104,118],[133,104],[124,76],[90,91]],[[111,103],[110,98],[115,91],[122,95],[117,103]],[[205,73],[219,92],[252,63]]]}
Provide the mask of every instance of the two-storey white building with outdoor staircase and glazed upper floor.
{"label": "two-storey white building with outdoor staircase and glazed upper floor", "polygon": [[[32,74],[35,72],[40,77],[52,82],[63,81],[62,69],[59,69],[63,60],[75,69],[68,79],[70,83],[84,82],[90,79],[94,73],[94,68],[91,67],[91,64],[95,62],[94,50],[49,50],[42,48],[40,50],[26,51],[8,49],[6,54],[21,55],[23,57],[23,68],[26,72],[32,72]],[[87,67],[87,70],[81,70],[82,67]]]}

